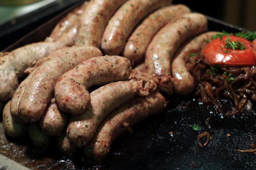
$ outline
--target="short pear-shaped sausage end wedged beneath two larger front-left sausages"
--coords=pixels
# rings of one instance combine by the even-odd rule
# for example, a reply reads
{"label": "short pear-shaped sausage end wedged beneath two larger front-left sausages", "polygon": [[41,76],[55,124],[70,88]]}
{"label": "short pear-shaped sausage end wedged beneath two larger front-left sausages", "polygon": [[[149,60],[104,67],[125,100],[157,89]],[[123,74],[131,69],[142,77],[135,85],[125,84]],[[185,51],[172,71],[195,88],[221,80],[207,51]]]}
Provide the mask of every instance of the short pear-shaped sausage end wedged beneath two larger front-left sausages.
{"label": "short pear-shaped sausage end wedged beneath two larger front-left sausages", "polygon": [[39,125],[47,136],[60,136],[68,126],[68,114],[57,103],[50,103],[39,119]]}

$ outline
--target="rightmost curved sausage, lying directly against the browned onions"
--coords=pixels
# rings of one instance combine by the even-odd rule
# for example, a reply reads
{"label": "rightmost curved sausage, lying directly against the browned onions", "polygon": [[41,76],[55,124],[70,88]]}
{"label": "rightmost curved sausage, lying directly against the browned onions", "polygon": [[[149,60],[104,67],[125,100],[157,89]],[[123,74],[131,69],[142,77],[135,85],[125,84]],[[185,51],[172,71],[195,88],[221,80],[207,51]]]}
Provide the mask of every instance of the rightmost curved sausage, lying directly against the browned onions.
{"label": "rightmost curved sausage, lying directly against the browned onions", "polygon": [[176,94],[187,95],[195,89],[195,81],[186,67],[184,54],[188,51],[201,51],[212,36],[219,32],[206,32],[183,44],[175,52],[172,60],[173,90]]}

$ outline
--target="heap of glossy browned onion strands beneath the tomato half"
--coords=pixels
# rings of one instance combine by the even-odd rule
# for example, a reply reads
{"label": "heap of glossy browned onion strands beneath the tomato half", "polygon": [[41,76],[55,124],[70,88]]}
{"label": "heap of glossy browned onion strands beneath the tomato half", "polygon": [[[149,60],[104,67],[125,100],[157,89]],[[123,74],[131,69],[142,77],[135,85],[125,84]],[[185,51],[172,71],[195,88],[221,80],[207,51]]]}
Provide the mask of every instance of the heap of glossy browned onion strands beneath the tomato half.
{"label": "heap of glossy browned onion strands beneath the tomato half", "polygon": [[227,112],[228,115],[252,108],[252,101],[256,101],[255,66],[220,66],[216,72],[212,73],[211,65],[201,54],[188,59],[192,52],[194,51],[187,52],[187,57],[184,56],[184,58],[188,62],[186,65],[188,70],[196,81],[196,95],[201,96],[204,104],[212,102],[221,112],[218,99],[227,98],[234,105],[234,108]]}

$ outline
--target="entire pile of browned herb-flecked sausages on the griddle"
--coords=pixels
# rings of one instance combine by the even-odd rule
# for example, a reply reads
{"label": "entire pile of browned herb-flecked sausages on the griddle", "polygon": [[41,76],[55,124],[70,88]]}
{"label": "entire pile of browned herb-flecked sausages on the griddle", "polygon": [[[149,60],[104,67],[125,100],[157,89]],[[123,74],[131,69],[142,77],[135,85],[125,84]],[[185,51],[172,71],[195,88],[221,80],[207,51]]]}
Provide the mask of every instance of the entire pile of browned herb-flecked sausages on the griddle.
{"label": "entire pile of browned herb-flecked sausages on the griddle", "polygon": [[161,92],[190,93],[183,54],[216,32],[204,33],[204,15],[171,1],[91,0],[44,42],[0,53],[6,134],[28,132],[37,147],[57,140],[68,156],[82,147],[99,160],[119,134],[165,107]]}

